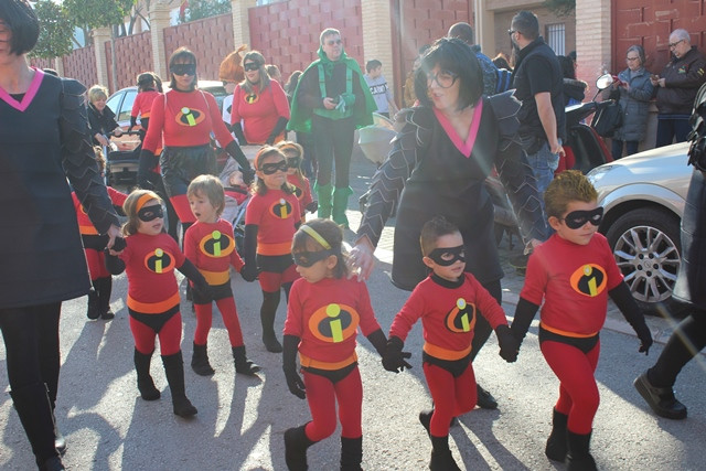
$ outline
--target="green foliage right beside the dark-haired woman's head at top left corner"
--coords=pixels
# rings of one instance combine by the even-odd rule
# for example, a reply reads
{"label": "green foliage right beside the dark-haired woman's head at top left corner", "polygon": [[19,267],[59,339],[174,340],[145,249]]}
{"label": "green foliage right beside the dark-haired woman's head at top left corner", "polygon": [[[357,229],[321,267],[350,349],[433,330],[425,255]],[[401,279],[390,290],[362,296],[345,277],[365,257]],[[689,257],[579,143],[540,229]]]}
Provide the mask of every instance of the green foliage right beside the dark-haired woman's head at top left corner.
{"label": "green foliage right beside the dark-haired woman's head at top left corner", "polygon": [[40,20],[40,38],[30,55],[53,58],[71,53],[74,26],[66,9],[52,0],[39,0],[34,11]]}

